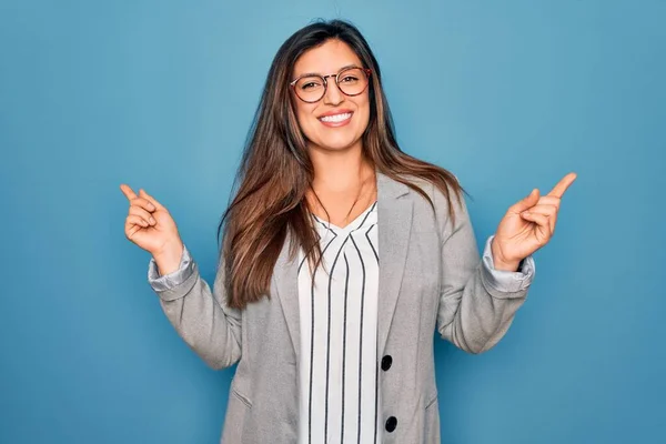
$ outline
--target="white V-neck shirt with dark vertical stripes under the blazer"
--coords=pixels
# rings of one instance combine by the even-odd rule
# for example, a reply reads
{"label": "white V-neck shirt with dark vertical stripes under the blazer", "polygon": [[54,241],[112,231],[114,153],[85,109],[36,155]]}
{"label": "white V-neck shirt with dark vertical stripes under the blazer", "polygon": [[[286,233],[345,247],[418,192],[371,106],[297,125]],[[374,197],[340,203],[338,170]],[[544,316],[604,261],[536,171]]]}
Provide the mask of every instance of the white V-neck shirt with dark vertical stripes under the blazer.
{"label": "white V-neck shirt with dark vertical stripes under the blazer", "polygon": [[323,263],[313,279],[300,252],[299,443],[381,443],[376,202],[345,228],[313,218]]}

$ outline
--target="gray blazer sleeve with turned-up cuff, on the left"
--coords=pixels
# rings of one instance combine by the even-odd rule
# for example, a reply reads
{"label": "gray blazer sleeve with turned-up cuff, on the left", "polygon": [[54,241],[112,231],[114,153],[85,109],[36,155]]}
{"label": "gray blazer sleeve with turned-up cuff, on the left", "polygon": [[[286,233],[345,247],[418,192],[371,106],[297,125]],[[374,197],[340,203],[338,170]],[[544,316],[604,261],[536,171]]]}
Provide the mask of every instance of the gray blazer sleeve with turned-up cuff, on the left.
{"label": "gray blazer sleeve with turned-up cuff, on the left", "polygon": [[240,360],[242,315],[226,304],[222,262],[211,290],[183,245],[180,266],[172,273],[161,276],[150,259],[148,282],[178,334],[210,367],[225,369]]}

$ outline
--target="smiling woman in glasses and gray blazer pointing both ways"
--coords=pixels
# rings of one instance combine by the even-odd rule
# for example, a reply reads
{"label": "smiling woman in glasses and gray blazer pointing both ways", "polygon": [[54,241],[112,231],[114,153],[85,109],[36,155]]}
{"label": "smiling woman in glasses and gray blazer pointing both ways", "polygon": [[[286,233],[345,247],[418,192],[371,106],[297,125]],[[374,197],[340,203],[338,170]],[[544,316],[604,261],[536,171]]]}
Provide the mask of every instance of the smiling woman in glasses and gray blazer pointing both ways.
{"label": "smiling woman in glasses and gray blazer pointing both ways", "polygon": [[575,174],[481,259],[456,178],[400,150],[377,61],[334,20],[278,51],[238,179],[212,291],[167,209],[121,185],[164,313],[211,367],[238,362],[222,442],[414,444],[440,442],[434,330],[500,341]]}

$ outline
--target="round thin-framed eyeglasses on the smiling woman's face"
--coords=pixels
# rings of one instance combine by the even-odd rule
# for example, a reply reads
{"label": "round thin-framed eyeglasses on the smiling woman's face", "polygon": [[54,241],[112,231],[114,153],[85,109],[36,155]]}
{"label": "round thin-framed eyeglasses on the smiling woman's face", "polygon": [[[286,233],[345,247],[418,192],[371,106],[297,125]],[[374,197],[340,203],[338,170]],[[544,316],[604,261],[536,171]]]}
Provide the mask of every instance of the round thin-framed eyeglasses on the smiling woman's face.
{"label": "round thin-framed eyeglasses on the smiling woman's face", "polygon": [[314,103],[320,101],[326,93],[330,77],[335,78],[335,84],[343,94],[353,97],[365,91],[371,72],[372,70],[367,68],[347,67],[336,74],[303,74],[289,84],[299,99],[306,103]]}

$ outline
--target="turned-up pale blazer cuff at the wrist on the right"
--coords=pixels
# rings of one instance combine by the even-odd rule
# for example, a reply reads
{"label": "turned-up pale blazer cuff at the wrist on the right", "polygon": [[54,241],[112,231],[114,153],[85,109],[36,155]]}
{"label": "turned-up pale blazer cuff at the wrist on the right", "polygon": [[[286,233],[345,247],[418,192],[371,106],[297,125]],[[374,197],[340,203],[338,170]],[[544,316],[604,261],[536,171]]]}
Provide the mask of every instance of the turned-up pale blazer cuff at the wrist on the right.
{"label": "turned-up pale blazer cuff at the wrist on the right", "polygon": [[500,293],[516,293],[526,290],[534,280],[536,264],[534,258],[528,255],[523,261],[518,271],[495,270],[493,250],[491,248],[495,234],[491,235],[483,251],[481,273],[486,284]]}

